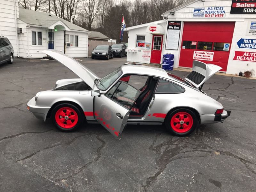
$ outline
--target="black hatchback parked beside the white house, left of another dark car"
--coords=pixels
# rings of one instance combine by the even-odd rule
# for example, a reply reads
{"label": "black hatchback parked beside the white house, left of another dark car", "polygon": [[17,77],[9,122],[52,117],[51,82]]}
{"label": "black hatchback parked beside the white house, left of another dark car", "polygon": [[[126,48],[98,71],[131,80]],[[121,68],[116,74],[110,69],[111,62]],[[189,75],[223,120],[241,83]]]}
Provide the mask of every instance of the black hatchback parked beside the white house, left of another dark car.
{"label": "black hatchback parked beside the white house, left of another dark car", "polygon": [[109,58],[113,57],[113,49],[110,45],[97,45],[97,47],[93,49],[92,52],[92,59],[103,58],[108,60]]}

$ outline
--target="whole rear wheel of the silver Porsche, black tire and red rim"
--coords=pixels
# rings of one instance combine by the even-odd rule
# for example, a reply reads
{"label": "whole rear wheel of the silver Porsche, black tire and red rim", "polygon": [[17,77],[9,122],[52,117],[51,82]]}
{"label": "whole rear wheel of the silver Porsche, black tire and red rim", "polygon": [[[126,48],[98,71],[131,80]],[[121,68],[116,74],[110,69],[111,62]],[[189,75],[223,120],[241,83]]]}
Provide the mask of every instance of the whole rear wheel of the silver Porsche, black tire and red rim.
{"label": "whole rear wheel of the silver Porsche, black tire and red rim", "polygon": [[[179,115],[177,115],[177,114],[179,114]],[[182,117],[181,116],[182,114],[184,117],[183,119],[180,118],[180,117]],[[187,122],[183,121],[186,118],[188,118],[187,120],[190,120],[190,121],[187,121]],[[174,122],[175,120],[179,120],[180,122],[175,123]],[[164,124],[165,124],[166,129],[173,135],[186,136],[186,135],[191,134],[193,131],[195,131],[195,129],[199,126],[199,121],[196,117],[196,114],[193,111],[186,109],[186,108],[180,108],[180,109],[176,109],[172,112],[169,112],[164,120]],[[186,127],[184,127],[185,124],[186,124]],[[175,127],[176,125],[178,128]],[[190,126],[191,126],[191,128],[190,128]]]}

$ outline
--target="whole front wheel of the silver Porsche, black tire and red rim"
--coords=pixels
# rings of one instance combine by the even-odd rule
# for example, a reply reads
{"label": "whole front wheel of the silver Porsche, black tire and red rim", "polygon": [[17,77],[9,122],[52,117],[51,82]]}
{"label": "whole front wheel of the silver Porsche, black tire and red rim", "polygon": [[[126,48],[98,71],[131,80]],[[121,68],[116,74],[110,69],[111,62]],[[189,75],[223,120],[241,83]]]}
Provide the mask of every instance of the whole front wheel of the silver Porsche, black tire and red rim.
{"label": "whole front wheel of the silver Porsche, black tire and red rim", "polygon": [[72,104],[57,105],[52,111],[52,120],[61,131],[74,131],[84,120],[81,111]]}

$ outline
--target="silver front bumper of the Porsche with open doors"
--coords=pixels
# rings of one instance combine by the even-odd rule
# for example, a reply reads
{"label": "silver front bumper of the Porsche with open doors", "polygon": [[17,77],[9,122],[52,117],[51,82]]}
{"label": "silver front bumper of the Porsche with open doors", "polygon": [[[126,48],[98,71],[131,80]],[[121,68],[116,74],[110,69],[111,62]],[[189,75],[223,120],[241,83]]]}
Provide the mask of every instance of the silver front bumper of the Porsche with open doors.
{"label": "silver front bumper of the Porsche with open doors", "polygon": [[51,107],[36,106],[35,97],[33,97],[31,100],[28,101],[27,108],[33,113],[34,116],[36,116],[36,118],[45,121],[47,113]]}

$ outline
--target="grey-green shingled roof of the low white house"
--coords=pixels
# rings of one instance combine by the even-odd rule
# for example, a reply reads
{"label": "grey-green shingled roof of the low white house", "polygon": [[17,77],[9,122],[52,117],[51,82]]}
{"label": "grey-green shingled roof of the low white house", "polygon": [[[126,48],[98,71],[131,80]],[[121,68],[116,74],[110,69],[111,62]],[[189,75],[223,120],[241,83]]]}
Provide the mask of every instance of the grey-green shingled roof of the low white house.
{"label": "grey-green shingled roof of the low white house", "polygon": [[[50,16],[51,15],[51,16]],[[88,30],[81,28],[73,23],[70,23],[64,19],[60,19],[54,14],[33,11],[29,9],[19,9],[19,19],[30,25],[38,25],[39,27],[49,27],[57,21],[62,21],[70,30],[89,32]]]}

